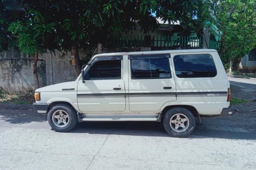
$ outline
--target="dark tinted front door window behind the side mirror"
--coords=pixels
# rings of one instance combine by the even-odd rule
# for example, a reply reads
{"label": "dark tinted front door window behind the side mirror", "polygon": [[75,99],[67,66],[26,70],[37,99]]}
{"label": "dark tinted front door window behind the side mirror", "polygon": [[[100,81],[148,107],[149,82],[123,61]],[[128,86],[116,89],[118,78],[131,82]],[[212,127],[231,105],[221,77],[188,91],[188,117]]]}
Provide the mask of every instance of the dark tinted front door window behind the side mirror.
{"label": "dark tinted front door window behind the side mirror", "polygon": [[85,80],[121,79],[121,59],[112,58],[96,61],[85,76]]}

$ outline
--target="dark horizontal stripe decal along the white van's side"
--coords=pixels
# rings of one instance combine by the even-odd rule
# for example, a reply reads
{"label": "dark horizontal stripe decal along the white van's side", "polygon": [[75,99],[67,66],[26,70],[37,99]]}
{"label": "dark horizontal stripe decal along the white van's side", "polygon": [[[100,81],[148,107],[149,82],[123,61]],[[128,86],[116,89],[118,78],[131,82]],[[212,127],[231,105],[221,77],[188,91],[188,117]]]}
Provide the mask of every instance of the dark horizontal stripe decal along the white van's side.
{"label": "dark horizontal stripe decal along the white van's side", "polygon": [[218,97],[227,92],[178,92],[178,93],[93,93],[77,94],[77,98],[125,98],[125,97]]}

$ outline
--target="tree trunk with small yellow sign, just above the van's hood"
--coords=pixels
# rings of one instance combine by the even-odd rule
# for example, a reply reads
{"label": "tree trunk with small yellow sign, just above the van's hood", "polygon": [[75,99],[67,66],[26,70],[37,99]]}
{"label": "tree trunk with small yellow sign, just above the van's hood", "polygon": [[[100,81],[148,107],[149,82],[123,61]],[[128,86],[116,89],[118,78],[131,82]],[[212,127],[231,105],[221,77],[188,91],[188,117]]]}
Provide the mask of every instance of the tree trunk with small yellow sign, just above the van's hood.
{"label": "tree trunk with small yellow sign, just above the van's hood", "polygon": [[71,47],[71,60],[72,60],[72,66],[75,72],[75,76],[79,76],[81,73],[81,64],[80,64],[80,58],[79,58],[79,47],[78,43],[72,43]]}

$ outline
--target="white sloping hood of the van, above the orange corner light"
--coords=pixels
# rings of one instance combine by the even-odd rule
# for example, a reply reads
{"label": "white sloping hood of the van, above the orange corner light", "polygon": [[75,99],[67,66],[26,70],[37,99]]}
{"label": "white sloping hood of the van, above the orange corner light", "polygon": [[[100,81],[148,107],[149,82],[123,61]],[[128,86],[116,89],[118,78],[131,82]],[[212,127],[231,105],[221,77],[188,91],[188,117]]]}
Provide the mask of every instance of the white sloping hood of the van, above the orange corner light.
{"label": "white sloping hood of the van, above the orange corner light", "polygon": [[35,92],[56,92],[56,91],[65,91],[65,90],[76,90],[77,83],[76,81],[69,81],[64,83],[58,83],[55,85],[48,85],[39,89],[36,89]]}

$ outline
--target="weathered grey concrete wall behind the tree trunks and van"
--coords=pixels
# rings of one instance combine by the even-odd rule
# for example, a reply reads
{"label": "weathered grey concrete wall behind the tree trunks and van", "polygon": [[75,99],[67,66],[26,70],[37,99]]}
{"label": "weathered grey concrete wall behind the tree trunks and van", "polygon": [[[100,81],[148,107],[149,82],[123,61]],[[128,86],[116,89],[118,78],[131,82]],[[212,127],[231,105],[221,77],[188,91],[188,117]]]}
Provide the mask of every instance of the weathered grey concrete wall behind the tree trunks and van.
{"label": "weathered grey concrete wall behind the tree trunks and van", "polygon": [[[88,51],[79,50],[79,56],[85,62],[88,54],[92,54],[96,47]],[[144,51],[144,47],[108,48],[106,52]],[[86,64],[86,63],[84,63]],[[71,53],[55,51],[39,54],[37,63],[40,87],[61,82],[72,81],[76,78],[71,65]],[[0,53],[0,87],[13,93],[26,93],[35,90],[33,75],[33,56],[24,55],[14,48]]]}

